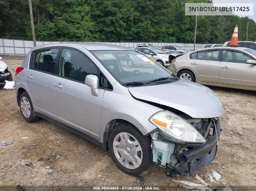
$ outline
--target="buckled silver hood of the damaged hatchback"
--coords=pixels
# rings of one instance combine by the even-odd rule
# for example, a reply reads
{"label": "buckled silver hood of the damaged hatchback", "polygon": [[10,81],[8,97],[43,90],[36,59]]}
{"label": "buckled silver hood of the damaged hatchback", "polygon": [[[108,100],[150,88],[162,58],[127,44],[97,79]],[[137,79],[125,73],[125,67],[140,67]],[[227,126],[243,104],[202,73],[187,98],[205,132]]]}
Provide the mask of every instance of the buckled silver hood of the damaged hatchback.
{"label": "buckled silver hood of the damaged hatchback", "polygon": [[220,98],[211,89],[180,79],[179,81],[129,88],[135,98],[180,110],[193,118],[213,118],[225,113]]}

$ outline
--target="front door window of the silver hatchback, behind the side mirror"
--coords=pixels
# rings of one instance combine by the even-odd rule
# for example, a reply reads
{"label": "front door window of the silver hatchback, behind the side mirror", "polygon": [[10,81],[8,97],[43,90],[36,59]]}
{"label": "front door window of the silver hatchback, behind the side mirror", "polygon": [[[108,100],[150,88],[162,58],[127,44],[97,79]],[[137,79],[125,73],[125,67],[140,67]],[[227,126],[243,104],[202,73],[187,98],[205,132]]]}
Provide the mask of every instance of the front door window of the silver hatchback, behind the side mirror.
{"label": "front door window of the silver hatchback, behind the side mirror", "polygon": [[59,75],[85,83],[89,74],[98,75],[98,69],[83,54],[72,49],[62,49]]}

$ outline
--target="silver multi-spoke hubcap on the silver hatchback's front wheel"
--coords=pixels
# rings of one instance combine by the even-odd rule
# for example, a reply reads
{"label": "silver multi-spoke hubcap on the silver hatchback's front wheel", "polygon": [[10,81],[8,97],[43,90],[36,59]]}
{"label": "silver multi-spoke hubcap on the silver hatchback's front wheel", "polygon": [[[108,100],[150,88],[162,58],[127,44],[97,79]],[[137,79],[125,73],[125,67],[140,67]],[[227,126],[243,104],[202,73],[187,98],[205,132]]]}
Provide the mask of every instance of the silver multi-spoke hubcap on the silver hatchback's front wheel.
{"label": "silver multi-spoke hubcap on the silver hatchback's front wheel", "polygon": [[138,140],[129,133],[121,132],[113,142],[115,157],[126,168],[135,169],[141,165],[142,149]]}

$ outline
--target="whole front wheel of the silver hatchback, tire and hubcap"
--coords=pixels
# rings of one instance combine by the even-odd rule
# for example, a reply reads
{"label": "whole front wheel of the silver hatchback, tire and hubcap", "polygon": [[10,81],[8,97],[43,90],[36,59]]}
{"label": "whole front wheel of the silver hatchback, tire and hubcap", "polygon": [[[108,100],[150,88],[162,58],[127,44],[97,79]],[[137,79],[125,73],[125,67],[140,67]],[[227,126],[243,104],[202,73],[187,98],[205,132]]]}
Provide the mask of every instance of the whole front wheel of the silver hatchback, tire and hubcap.
{"label": "whole front wheel of the silver hatchback, tire and hubcap", "polygon": [[110,155],[119,169],[132,176],[146,173],[153,166],[150,140],[128,123],[118,124],[108,140]]}

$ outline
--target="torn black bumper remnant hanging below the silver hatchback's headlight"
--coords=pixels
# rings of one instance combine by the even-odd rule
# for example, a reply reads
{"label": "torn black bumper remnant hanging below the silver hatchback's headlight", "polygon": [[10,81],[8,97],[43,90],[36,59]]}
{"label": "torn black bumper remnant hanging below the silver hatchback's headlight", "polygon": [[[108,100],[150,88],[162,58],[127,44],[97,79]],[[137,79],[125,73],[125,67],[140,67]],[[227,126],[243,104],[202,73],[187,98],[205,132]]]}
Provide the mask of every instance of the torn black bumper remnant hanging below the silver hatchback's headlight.
{"label": "torn black bumper remnant hanging below the silver hatchback's headlight", "polygon": [[215,122],[216,130],[213,129],[213,136],[204,145],[197,146],[193,149],[180,154],[179,161],[181,165],[175,167],[175,172],[180,174],[192,175],[192,173],[201,170],[214,160],[220,137],[221,125],[219,119]]}

